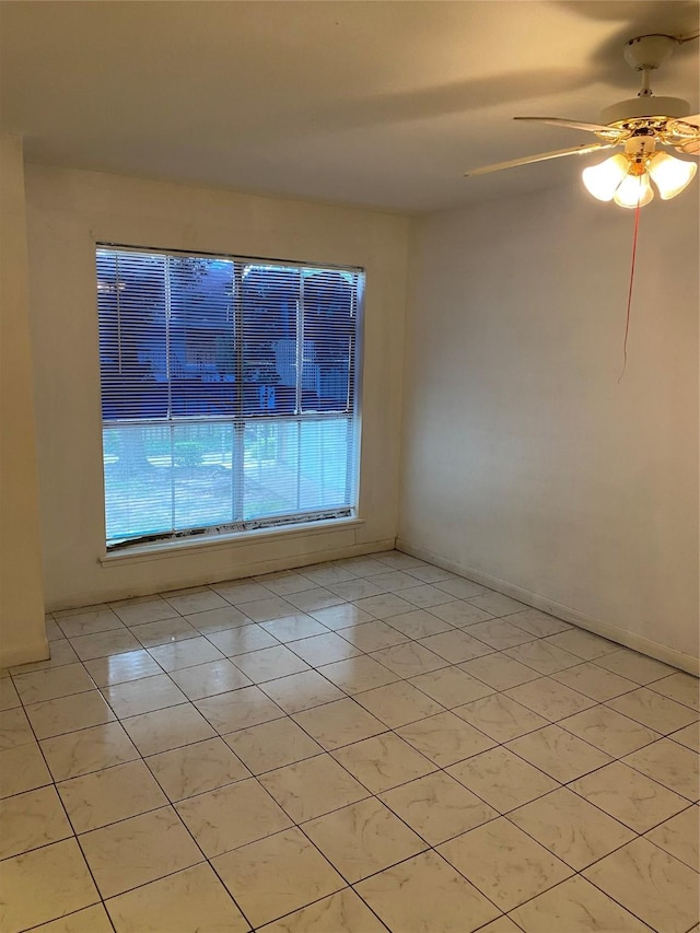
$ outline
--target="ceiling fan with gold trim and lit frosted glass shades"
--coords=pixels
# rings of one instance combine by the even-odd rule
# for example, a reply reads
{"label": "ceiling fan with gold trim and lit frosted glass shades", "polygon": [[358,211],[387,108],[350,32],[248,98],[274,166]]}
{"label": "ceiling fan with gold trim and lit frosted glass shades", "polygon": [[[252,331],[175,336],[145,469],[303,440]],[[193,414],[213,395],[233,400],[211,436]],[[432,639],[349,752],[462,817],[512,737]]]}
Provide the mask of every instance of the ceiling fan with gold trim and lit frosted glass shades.
{"label": "ceiling fan with gold trim and lit frosted glass shades", "polygon": [[700,114],[689,115],[690,105],[679,97],[655,97],[650,79],[651,72],[663,65],[677,46],[693,38],[698,38],[698,35],[676,37],[653,34],[637,36],[626,43],[625,60],[635,71],[641,71],[642,86],[637,97],[606,107],[600,114],[599,124],[559,117],[514,118],[584,130],[595,133],[599,142],[472,168],[465,177],[564,155],[587,155],[621,145],[622,152],[598,165],[584,168],[584,185],[595,198],[614,200],[626,208],[643,207],[654,197],[650,178],[664,200],[675,198],[690,184],[698,166],[693,162],[669,155],[663,147],[673,147],[684,155],[700,155]]}

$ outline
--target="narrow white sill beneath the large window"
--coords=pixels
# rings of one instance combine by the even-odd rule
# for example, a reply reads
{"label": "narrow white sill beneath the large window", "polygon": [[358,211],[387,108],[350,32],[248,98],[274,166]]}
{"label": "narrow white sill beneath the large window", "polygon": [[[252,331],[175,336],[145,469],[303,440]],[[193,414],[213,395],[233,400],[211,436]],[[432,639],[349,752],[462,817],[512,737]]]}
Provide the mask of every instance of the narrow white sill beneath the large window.
{"label": "narrow white sill beneath the large window", "polygon": [[261,528],[254,532],[237,532],[230,535],[199,539],[182,539],[163,541],[162,544],[135,545],[128,550],[107,553],[98,558],[103,567],[122,567],[129,563],[143,563],[151,560],[164,560],[173,557],[184,557],[199,551],[221,550],[225,548],[244,547],[260,541],[272,541],[280,538],[308,537],[326,535],[329,532],[350,530],[364,525],[364,518],[335,518],[307,525],[287,525],[281,528]]}

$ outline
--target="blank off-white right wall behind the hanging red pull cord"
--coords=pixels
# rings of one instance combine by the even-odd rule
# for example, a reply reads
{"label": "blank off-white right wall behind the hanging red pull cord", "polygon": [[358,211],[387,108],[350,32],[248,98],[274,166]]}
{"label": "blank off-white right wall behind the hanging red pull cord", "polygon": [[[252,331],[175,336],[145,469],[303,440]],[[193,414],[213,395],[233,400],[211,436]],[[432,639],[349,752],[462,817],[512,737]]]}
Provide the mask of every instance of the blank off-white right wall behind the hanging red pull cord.
{"label": "blank off-white right wall behind the hanging red pull cord", "polygon": [[[574,166],[575,172],[575,166]],[[698,182],[416,222],[399,547],[697,669]]]}

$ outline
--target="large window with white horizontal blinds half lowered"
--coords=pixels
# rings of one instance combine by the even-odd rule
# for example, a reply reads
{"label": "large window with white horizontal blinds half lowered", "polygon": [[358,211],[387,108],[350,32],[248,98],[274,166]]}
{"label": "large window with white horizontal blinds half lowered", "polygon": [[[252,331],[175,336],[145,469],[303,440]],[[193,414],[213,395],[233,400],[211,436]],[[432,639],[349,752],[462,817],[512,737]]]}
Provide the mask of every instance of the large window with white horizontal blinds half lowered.
{"label": "large window with white horizontal blinds half lowered", "polygon": [[361,270],[96,266],[108,549],[354,514]]}

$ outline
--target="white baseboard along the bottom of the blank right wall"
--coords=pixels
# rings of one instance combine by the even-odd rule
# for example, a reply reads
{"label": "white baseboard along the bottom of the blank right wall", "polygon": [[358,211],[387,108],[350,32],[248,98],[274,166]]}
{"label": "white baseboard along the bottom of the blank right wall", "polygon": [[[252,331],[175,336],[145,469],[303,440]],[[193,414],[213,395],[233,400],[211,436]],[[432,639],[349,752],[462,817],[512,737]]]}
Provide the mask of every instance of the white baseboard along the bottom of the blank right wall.
{"label": "white baseboard along the bottom of the blank right wall", "polygon": [[396,549],[408,553],[411,557],[417,557],[420,560],[425,560],[429,563],[434,563],[436,567],[442,567],[443,570],[451,570],[459,576],[466,576],[474,580],[475,583],[481,583],[490,590],[495,590],[498,593],[503,593],[505,596],[511,596],[527,606],[535,609],[541,609],[542,613],[549,613],[551,616],[557,616],[565,622],[571,622],[594,634],[607,638],[625,648],[631,648],[633,651],[639,651],[650,657],[655,657],[656,661],[663,661],[664,664],[670,664],[673,667],[678,667],[680,670],[686,670],[688,674],[700,676],[700,658],[693,657],[691,654],[678,651],[675,648],[661,644],[652,641],[652,639],[635,634],[619,628],[611,622],[606,622],[603,619],[596,619],[593,616],[587,616],[585,613],[580,613],[578,609],[572,609],[570,606],[564,606],[561,603],[556,603],[552,599],[547,599],[537,593],[530,593],[529,590],[524,590],[522,586],[516,586],[498,576],[491,576],[488,573],[475,570],[472,567],[465,567],[458,561],[450,560],[442,555],[434,553],[427,548],[421,548],[401,538],[396,539]]}

